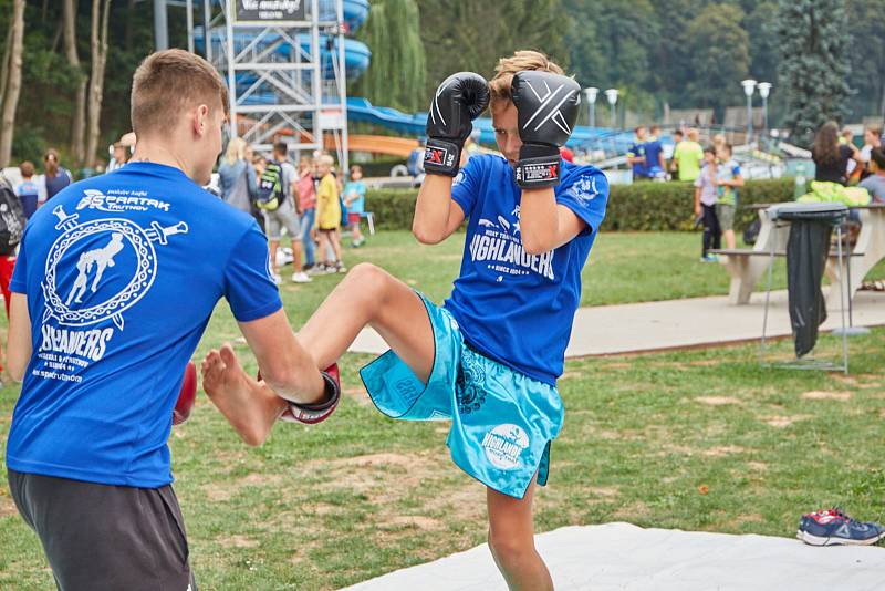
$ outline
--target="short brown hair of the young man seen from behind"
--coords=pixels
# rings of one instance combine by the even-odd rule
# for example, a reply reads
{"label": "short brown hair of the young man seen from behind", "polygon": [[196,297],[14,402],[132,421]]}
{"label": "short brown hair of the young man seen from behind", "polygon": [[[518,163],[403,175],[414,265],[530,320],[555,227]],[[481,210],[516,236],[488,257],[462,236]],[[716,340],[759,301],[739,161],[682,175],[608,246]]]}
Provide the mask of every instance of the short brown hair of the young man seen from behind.
{"label": "short brown hair of the young man seen from behind", "polygon": [[221,103],[228,114],[228,89],[218,71],[194,53],[171,49],[152,53],[132,79],[129,115],[137,136],[168,133],[184,110]]}

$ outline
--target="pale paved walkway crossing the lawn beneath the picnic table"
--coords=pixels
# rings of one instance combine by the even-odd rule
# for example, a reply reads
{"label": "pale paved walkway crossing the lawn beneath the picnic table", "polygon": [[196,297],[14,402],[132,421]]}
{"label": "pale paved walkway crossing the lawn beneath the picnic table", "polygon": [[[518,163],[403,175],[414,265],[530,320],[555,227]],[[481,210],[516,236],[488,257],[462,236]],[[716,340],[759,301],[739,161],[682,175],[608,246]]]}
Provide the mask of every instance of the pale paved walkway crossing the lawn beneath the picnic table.
{"label": "pale paved walkway crossing the lawn beneath the picnic table", "polygon": [[[726,296],[666,302],[628,303],[582,308],[577,311],[566,357],[612,355],[667,349],[758,341],[762,334],[764,293],[753,293],[747,305],[730,305]],[[790,334],[787,291],[771,296],[770,336]],[[840,310],[827,309],[824,330],[841,325]],[[847,314],[846,314],[847,315]],[[885,293],[860,291],[854,298],[855,326],[885,325]],[[358,353],[379,354],[387,345],[364,330],[351,346]]]}

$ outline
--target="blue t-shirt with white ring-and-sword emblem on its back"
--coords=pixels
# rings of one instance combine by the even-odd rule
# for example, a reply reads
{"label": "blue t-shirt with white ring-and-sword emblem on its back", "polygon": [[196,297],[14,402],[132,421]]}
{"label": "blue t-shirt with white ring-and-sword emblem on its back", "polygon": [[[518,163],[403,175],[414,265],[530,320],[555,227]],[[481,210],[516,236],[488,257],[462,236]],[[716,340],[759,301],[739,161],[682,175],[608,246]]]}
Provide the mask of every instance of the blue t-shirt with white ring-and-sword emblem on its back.
{"label": "blue t-shirt with white ring-and-sword emblem on its back", "polygon": [[33,354],[7,443],[19,471],[156,488],[185,365],[218,300],[239,321],[282,305],[254,219],[169,166],[131,162],[40,208],[10,288]]}

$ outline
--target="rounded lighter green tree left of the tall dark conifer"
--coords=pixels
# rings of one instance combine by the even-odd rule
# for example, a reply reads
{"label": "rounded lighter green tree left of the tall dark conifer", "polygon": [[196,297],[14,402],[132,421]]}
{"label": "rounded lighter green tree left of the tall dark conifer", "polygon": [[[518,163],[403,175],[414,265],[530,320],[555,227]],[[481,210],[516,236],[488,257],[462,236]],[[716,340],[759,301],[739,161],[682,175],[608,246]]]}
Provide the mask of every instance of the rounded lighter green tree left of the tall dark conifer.
{"label": "rounded lighter green tree left of the tall dark conifer", "polygon": [[688,23],[683,60],[690,72],[686,97],[693,105],[722,108],[739,96],[739,82],[750,66],[742,19],[743,11],[736,6],[709,4]]}

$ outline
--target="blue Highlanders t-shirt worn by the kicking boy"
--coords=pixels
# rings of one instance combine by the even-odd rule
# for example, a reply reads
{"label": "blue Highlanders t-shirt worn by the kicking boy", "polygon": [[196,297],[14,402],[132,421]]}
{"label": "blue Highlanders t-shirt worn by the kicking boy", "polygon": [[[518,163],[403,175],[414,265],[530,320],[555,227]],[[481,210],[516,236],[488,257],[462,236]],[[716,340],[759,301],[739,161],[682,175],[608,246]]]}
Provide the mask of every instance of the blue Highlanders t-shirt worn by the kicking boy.
{"label": "blue Highlanders t-shirt worn by the kicking boy", "polygon": [[608,180],[597,168],[562,162],[555,195],[587,227],[555,250],[529,255],[513,169],[500,156],[470,158],[451,188],[469,221],[461,272],[445,303],[467,344],[551,385],[562,374],[581,302],[581,269],[605,217]]}

